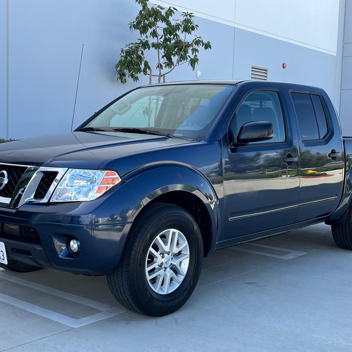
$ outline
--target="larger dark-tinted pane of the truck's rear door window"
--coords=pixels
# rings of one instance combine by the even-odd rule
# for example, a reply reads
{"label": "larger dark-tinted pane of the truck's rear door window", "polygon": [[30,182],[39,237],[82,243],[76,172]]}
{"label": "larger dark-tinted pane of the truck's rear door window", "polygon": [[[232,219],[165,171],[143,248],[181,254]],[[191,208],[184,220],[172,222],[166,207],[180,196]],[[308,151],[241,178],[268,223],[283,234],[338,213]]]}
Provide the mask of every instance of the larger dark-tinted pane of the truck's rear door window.
{"label": "larger dark-tinted pane of the truck's rear door window", "polygon": [[302,140],[319,139],[318,125],[309,94],[291,93]]}

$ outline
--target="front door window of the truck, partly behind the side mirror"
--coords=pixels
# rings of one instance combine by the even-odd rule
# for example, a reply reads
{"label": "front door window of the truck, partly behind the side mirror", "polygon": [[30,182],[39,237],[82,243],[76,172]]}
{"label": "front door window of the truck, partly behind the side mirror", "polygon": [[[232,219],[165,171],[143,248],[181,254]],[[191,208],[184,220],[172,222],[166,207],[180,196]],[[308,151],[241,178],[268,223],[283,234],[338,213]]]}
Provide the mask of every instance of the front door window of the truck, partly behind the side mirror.
{"label": "front door window of the truck, partly behind the side mirror", "polygon": [[274,127],[274,137],[267,142],[275,143],[286,140],[282,107],[277,92],[260,91],[249,94],[237,109],[235,117],[237,131],[250,121],[268,121]]}

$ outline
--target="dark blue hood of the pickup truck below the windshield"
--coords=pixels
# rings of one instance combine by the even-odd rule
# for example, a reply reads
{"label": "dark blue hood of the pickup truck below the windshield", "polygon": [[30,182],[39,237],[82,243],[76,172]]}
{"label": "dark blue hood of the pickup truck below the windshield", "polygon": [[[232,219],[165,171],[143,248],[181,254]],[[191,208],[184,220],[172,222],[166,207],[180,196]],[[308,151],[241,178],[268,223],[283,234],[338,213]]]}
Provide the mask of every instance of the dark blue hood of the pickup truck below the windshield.
{"label": "dark blue hood of the pickup truck below the windshield", "polygon": [[107,159],[190,143],[150,134],[70,132],[0,143],[0,163],[98,169]]}

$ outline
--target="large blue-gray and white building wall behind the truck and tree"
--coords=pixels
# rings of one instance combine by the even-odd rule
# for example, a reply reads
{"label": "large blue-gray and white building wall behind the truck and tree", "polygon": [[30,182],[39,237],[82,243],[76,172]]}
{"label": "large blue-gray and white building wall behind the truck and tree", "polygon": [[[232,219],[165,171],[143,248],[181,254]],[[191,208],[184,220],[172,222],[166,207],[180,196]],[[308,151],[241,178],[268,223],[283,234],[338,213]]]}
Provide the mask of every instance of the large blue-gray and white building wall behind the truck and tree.
{"label": "large blue-gray and white building wall behind the truck and tree", "polygon": [[[211,51],[200,51],[202,79],[249,79],[256,65],[269,69],[270,80],[320,86],[334,97],[339,0],[320,0],[319,9],[316,0],[156,1],[197,15],[197,34],[212,42]],[[0,1],[0,137],[6,137],[6,109],[8,137],[70,131],[83,43],[74,127],[120,94],[147,84],[141,76],[121,85],[114,70],[120,48],[138,38],[128,30],[138,10],[133,0],[85,0],[84,6],[82,0]],[[195,79],[188,65],[167,77]],[[344,84],[349,87],[348,79]]]}

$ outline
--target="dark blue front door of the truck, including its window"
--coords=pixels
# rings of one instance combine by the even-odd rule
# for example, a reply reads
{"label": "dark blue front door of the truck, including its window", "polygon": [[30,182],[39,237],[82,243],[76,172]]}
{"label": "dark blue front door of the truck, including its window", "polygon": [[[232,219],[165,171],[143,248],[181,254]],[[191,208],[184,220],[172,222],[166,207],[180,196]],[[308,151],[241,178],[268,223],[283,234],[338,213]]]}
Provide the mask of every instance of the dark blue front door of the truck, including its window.
{"label": "dark blue front door of the truck, including its window", "polygon": [[[292,224],[297,215],[296,127],[285,118],[286,104],[277,86],[262,87],[244,89],[227,126],[237,127],[238,133],[246,122],[268,121],[274,127],[274,137],[236,148],[222,143],[225,239]],[[291,160],[287,157],[296,161],[287,162]]]}

